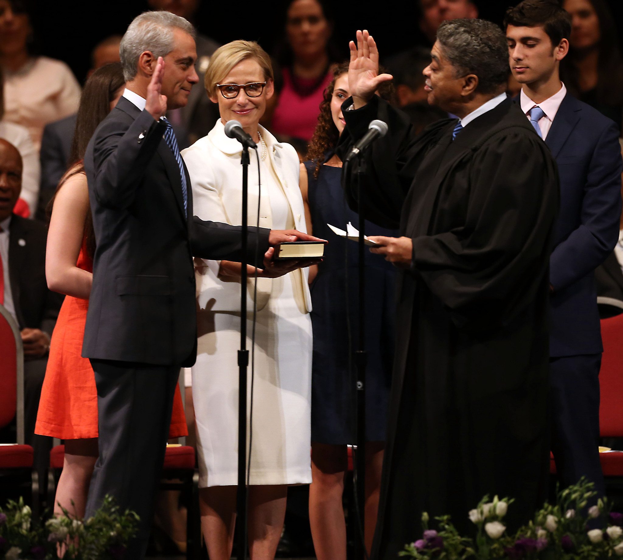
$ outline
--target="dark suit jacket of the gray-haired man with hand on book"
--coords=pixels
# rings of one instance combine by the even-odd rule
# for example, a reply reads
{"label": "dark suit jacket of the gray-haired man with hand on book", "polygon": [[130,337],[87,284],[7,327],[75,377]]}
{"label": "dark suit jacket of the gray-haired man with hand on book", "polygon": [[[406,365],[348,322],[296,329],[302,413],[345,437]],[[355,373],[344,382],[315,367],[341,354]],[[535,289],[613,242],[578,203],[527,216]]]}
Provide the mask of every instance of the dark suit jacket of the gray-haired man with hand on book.
{"label": "dark suit jacket of the gray-haired man with hand on book", "polygon": [[[196,358],[193,256],[242,259],[240,227],[184,213],[165,125],[125,97],[88,144],[85,170],[97,249],[83,356],[159,366]],[[262,265],[269,230],[250,228],[247,260]],[[255,262],[255,244],[259,243]]]}

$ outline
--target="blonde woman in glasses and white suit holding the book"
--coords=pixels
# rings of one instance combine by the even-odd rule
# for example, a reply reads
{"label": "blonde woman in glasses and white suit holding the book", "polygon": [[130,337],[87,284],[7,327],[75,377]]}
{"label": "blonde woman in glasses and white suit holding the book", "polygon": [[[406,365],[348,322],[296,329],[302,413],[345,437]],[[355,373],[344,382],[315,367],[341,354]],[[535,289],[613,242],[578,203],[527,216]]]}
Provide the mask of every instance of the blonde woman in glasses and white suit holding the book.
{"label": "blonde woman in glasses and white suit holding the book", "polygon": [[[221,119],[182,154],[193,187],[195,214],[242,222],[242,146],[225,135],[240,121],[257,143],[249,166],[249,214],[260,227],[307,231],[295,149],[259,125],[273,95],[269,56],[255,42],[233,41],[218,49],[206,72],[207,95]],[[193,367],[201,523],[211,560],[232,551],[237,484],[237,407],[240,325],[240,263],[197,263],[199,341]],[[250,272],[254,269],[249,267]],[[254,281],[247,286],[247,333],[252,334]],[[274,558],[283,527],[287,486],[312,482],[310,399],[312,325],[307,268],[257,281],[255,376],[249,489],[249,551],[252,560]],[[249,348],[251,343],[249,339]]]}

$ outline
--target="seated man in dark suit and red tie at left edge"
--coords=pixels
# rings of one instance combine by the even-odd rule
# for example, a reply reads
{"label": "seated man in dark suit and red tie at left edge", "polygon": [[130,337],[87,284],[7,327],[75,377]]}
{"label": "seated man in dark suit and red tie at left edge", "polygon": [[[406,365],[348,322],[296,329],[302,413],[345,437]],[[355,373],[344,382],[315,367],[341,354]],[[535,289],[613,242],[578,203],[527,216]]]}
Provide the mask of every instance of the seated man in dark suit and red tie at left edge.
{"label": "seated man in dark suit and red tie at left edge", "polygon": [[39,222],[13,214],[22,187],[22,158],[0,140],[0,304],[17,321],[24,344],[24,431],[39,471],[49,463],[52,440],[34,434],[50,336],[62,295],[45,282],[45,238]]}

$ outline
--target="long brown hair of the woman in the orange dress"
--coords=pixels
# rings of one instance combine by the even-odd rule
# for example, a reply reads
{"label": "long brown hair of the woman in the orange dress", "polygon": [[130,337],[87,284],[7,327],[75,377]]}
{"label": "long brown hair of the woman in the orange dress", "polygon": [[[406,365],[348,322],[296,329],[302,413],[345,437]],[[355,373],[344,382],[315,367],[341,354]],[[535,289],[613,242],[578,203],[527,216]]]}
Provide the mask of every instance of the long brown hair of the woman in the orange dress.
{"label": "long brown hair of the woman in the orange dress", "polygon": [[[124,83],[123,69],[119,62],[112,62],[98,68],[85,83],[76,115],[74,140],[69,158],[70,166],[60,179],[59,186],[56,187],[56,192],[45,209],[48,217],[52,215],[54,199],[65,181],[78,173],[84,173],[83,159],[88,142],[97,126],[110,113],[110,103]],[[93,217],[90,209],[84,222],[84,237],[87,244],[87,254],[92,259],[95,254],[95,232],[93,231]]]}

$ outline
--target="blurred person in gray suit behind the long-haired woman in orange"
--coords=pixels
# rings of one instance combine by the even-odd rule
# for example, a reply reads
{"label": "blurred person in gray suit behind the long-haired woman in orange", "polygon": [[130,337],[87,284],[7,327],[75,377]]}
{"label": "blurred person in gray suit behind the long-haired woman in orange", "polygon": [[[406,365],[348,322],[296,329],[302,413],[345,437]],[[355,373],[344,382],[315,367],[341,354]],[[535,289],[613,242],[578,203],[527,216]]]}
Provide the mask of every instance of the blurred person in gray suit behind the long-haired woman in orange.
{"label": "blurred person in gray suit behind the long-haired woman in orange", "polygon": [[[1,0],[0,0],[1,1]],[[119,62],[119,43],[121,36],[113,35],[100,41],[91,53],[91,69],[87,76],[90,76],[102,66],[112,62]],[[41,148],[39,153],[41,163],[41,183],[39,189],[39,201],[35,217],[43,222],[47,222],[45,209],[47,204],[54,196],[56,187],[60,179],[67,171],[72,154],[72,142],[74,141],[74,130],[76,126],[76,113],[72,113],[65,118],[45,125],[41,138]]]}

